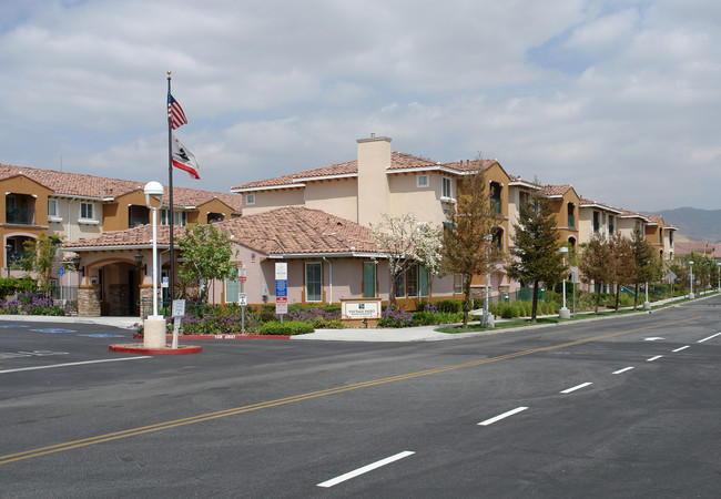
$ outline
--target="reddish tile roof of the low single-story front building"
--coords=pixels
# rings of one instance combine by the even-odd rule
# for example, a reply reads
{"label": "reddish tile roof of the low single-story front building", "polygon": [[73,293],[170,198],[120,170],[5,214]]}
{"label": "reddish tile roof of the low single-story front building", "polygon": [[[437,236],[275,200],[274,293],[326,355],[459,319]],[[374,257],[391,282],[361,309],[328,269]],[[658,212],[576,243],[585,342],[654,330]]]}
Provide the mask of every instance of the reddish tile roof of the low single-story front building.
{"label": "reddish tile roof of the low single-story front building", "polygon": [[[319,210],[283,207],[254,215],[216,222],[214,227],[232,236],[232,241],[266,255],[317,253],[374,253],[376,243],[370,228]],[[183,227],[175,227],[182,237]],[[167,245],[170,230],[158,227],[158,244]],[[135,246],[152,244],[152,226],[141,225],[125,231],[106,232],[98,237],[68,243],[69,249]]]}

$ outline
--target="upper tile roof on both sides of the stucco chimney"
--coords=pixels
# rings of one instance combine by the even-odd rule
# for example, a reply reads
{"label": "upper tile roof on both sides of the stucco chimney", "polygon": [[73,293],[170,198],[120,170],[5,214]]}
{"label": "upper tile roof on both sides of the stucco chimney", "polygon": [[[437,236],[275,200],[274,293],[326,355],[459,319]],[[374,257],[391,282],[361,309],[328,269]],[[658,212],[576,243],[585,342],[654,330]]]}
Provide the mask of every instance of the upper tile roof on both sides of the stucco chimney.
{"label": "upper tile roof on both sides of the stucco chimney", "polygon": [[[496,160],[483,160],[483,169],[488,170]],[[458,161],[451,163],[439,163],[425,157],[414,156],[412,154],[392,152],[389,173],[403,172],[405,170],[435,170],[444,169],[456,171],[459,174],[467,173],[477,167],[476,161]],[[358,174],[358,161],[352,160],[344,163],[334,163],[319,169],[304,170],[302,172],[290,173],[286,175],[274,176],[272,179],[248,182],[246,184],[231,187],[232,191],[253,191],[263,189],[283,189],[297,186],[302,187],[302,182],[311,180],[321,180],[333,176],[356,176]]]}

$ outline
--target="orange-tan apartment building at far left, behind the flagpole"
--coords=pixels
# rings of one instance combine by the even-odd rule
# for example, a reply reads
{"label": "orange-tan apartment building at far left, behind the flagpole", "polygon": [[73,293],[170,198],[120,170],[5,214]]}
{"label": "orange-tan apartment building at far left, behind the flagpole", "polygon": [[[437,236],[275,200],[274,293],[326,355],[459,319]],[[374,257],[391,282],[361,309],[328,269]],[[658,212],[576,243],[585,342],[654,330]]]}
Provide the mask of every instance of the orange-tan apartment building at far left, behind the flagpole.
{"label": "orange-tan apartment building at far left, behind the flagpole", "polygon": [[[135,181],[0,164],[0,189],[6,193],[0,196],[6,276],[24,274],[13,265],[24,257],[24,242],[40,234],[73,242],[150,223],[144,184]],[[170,192],[165,191],[161,224],[170,222]],[[174,189],[173,204],[179,227],[231,220],[242,210],[235,194],[182,187]],[[82,284],[75,273],[55,278],[65,286]]]}

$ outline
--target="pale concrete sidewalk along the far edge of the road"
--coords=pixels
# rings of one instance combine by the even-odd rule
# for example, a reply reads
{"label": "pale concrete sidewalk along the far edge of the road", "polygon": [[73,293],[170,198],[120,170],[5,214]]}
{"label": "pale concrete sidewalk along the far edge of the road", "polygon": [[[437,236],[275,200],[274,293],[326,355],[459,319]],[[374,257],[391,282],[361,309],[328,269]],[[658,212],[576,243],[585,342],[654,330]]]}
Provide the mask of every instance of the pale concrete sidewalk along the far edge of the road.
{"label": "pale concrete sidewalk along the far edge of the road", "polygon": [[[693,302],[711,298],[718,296],[718,293],[709,293],[704,296],[697,297]],[[677,296],[674,298],[661,299],[651,303],[651,310],[659,305],[666,305],[669,302],[679,301],[683,297]],[[632,309],[633,307],[626,307],[622,309]],[[639,310],[643,312],[642,306]],[[582,312],[577,315],[593,315],[592,312]],[[612,319],[617,316],[603,317],[589,317],[586,320],[605,320]],[[624,316],[628,317],[628,316]],[[142,323],[140,317],[54,317],[43,315],[0,315],[0,322],[28,322],[28,323],[55,323],[55,324],[98,324],[101,326],[112,326],[121,329],[135,329],[138,324]],[[477,320],[477,319],[476,319]],[[518,319],[496,319],[497,324],[509,320]],[[512,330],[537,329],[541,327],[558,327],[566,324],[576,324],[575,322],[562,322],[556,324],[537,324],[520,327],[496,328],[488,330],[478,330],[470,333],[438,333],[435,330],[439,326],[418,326],[418,327],[404,327],[404,328],[346,328],[346,329],[319,329],[315,333],[306,335],[291,336],[293,340],[325,340],[325,342],[440,342],[445,339],[460,339],[471,336],[487,336],[499,333],[507,333]]]}

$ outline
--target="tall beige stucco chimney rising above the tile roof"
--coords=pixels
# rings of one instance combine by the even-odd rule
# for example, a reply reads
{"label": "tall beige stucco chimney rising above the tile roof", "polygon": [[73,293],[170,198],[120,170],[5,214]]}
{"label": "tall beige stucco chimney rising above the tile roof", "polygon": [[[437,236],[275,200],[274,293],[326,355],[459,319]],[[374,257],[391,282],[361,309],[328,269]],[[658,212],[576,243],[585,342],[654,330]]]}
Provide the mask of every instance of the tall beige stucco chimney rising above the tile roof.
{"label": "tall beige stucco chimney rising above the tile roof", "polygon": [[369,226],[388,212],[388,175],[390,139],[370,135],[358,139],[358,223]]}

